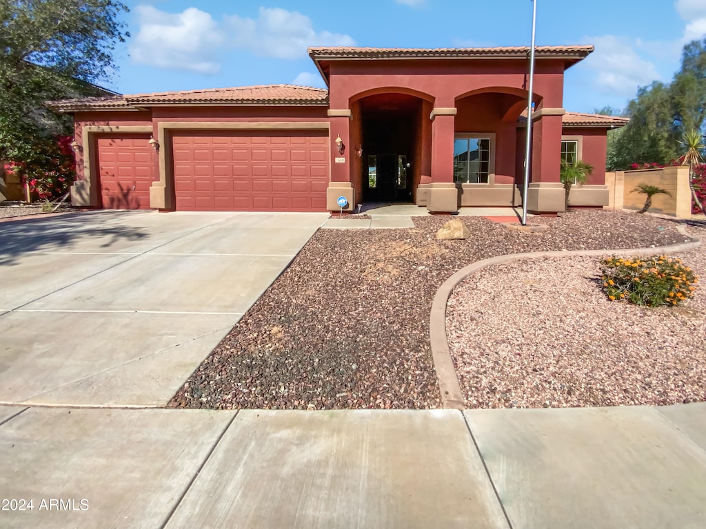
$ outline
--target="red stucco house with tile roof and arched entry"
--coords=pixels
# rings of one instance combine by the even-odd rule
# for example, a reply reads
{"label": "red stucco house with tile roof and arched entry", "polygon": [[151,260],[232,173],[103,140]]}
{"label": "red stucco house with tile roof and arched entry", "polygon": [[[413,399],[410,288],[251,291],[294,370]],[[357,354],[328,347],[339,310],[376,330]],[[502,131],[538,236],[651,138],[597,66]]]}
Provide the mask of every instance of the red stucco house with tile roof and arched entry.
{"label": "red stucco house with tile roof and arched entry", "polygon": [[[595,168],[573,205],[608,203],[606,133],[567,113],[564,71],[591,46],[537,47],[530,212],[563,211],[561,158]],[[519,205],[528,47],[309,49],[328,90],[291,85],[74,99],[72,204],[325,211],[403,201],[431,212]],[[522,117],[523,111],[525,117]]]}

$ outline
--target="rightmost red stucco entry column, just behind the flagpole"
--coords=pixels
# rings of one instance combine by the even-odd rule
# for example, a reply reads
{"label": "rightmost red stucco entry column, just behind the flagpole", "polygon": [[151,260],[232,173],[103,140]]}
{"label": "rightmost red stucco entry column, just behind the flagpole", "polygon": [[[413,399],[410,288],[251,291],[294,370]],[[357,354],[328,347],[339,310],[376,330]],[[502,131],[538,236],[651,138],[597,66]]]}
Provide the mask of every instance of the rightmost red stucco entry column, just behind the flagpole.
{"label": "rightmost red stucco entry column, just behind the flagpole", "polygon": [[564,210],[561,168],[561,116],[564,109],[535,112],[532,129],[532,181],[527,190],[527,209],[532,213]]}

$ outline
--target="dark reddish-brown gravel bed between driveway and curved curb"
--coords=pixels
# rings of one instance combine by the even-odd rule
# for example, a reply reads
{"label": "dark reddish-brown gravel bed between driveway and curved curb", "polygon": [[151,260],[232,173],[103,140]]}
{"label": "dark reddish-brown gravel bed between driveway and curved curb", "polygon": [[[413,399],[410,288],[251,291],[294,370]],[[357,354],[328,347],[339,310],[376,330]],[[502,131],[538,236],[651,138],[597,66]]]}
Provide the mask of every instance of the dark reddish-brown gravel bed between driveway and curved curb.
{"label": "dark reddish-brown gravel bed between driveway and curved curb", "polygon": [[472,233],[465,241],[434,238],[445,216],[414,217],[414,229],[317,231],[169,406],[436,408],[429,310],[457,269],[507,253],[684,241],[673,221],[628,212],[532,217],[549,224],[544,233],[457,218]]}

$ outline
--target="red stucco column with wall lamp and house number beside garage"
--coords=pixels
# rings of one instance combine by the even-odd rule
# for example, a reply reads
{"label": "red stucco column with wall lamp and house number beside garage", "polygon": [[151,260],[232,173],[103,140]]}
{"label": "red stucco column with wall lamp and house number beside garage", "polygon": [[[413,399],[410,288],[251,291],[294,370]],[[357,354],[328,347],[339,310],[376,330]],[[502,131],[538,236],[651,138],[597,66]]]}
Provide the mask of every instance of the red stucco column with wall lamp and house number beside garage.
{"label": "red stucco column with wall lamp and house number beside garage", "polygon": [[[355,206],[355,193],[351,182],[350,157],[355,154],[355,146],[350,141],[350,120],[352,111],[350,109],[330,109],[328,111],[330,119],[329,129],[329,150],[331,179],[326,190],[326,209],[338,211],[338,197],[346,197],[348,204],[344,211],[352,211]],[[340,136],[344,151],[341,153],[336,146],[336,138]]]}

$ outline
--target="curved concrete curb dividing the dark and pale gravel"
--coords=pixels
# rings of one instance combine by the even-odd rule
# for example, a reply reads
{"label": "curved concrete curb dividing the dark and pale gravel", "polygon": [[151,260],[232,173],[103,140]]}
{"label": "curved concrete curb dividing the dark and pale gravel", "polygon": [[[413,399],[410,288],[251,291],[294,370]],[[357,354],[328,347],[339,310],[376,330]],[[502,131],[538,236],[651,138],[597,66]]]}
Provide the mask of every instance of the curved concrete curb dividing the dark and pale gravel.
{"label": "curved concrete curb dividing the dark and pale gravel", "polygon": [[621,253],[623,255],[645,255],[653,253],[686,252],[693,250],[701,244],[701,238],[690,235],[684,226],[676,226],[676,231],[691,239],[688,243],[672,244],[669,246],[659,246],[657,248],[628,248],[615,250],[560,250],[556,252],[528,252],[513,253],[508,255],[498,255],[482,261],[474,262],[472,265],[463,267],[458,272],[450,276],[436,291],[433,303],[431,303],[431,317],[429,322],[429,341],[431,342],[431,355],[436,370],[439,389],[441,390],[441,402],[444,408],[456,410],[465,409],[463,393],[458,382],[458,375],[453,365],[451,351],[448,348],[446,338],[446,303],[457,284],[467,276],[480,269],[491,265],[499,265],[503,262],[517,261],[522,259],[537,259],[538,257],[574,257],[574,256],[600,256]]}

